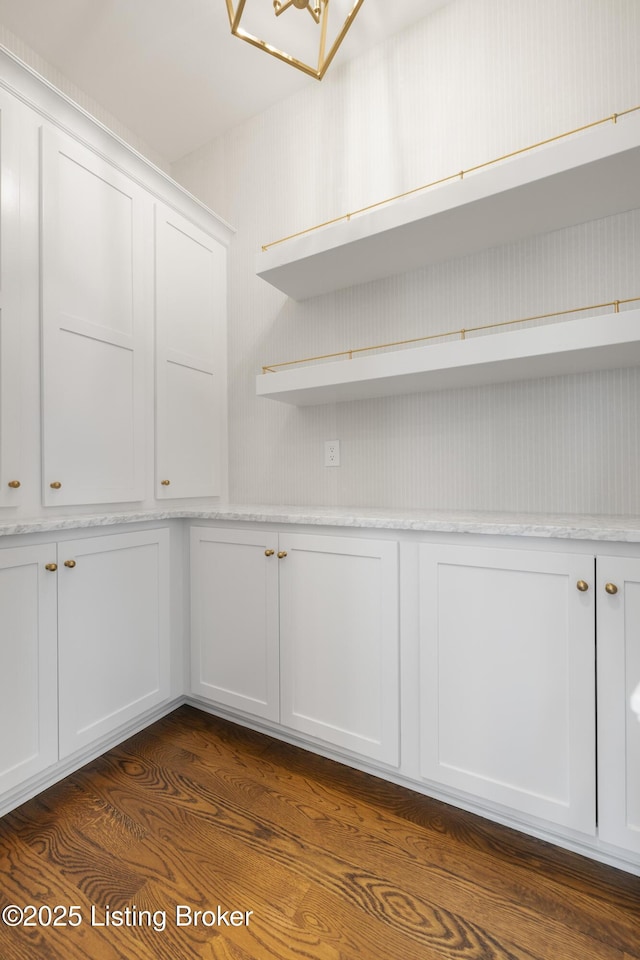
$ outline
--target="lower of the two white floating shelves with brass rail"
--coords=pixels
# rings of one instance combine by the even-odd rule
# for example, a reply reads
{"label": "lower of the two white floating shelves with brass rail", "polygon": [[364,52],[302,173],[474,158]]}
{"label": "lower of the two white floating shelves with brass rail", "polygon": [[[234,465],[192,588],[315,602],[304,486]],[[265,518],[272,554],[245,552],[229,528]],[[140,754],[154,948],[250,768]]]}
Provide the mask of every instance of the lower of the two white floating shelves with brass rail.
{"label": "lower of the two white floating shelves with brass rail", "polygon": [[640,365],[640,309],[295,367],[256,377],[297,406],[476,387]]}

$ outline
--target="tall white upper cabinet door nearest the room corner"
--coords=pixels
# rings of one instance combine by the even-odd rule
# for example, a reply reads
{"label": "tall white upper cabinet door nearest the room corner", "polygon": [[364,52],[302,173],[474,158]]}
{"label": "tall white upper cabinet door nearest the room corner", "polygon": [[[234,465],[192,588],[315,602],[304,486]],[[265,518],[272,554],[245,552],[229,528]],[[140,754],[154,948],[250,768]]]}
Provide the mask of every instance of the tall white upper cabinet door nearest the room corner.
{"label": "tall white upper cabinet door nearest the room corner", "polygon": [[156,496],[219,496],[226,422],[226,249],[156,205]]}

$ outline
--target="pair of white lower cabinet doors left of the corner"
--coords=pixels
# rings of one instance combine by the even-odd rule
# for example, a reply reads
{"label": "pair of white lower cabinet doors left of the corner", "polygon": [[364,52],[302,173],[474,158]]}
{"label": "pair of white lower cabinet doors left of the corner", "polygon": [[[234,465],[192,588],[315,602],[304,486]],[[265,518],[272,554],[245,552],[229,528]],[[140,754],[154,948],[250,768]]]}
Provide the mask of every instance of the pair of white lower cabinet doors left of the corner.
{"label": "pair of white lower cabinet doors left of the corner", "polygon": [[167,529],[0,549],[0,794],[169,696]]}

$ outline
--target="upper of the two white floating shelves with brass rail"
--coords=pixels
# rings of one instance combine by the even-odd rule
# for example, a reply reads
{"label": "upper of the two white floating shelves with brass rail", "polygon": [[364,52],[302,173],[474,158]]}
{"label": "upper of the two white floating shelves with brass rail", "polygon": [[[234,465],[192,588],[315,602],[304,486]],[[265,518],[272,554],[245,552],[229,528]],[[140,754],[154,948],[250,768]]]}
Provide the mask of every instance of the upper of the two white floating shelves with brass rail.
{"label": "upper of the two white floating shelves with brass rail", "polygon": [[640,207],[640,111],[258,254],[305,300]]}

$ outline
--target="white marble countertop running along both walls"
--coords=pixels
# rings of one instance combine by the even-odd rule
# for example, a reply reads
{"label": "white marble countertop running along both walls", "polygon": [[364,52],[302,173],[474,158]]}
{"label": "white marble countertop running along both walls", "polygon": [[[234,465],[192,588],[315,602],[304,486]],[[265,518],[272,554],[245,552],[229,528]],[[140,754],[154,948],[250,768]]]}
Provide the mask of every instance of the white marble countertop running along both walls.
{"label": "white marble countertop running along both walls", "polygon": [[205,509],[159,508],[145,511],[114,511],[110,513],[77,514],[75,516],[7,519],[0,520],[0,536],[179,519],[640,543],[640,517],[557,516],[427,509],[393,510],[365,507],[300,507],[265,504],[225,504]]}

